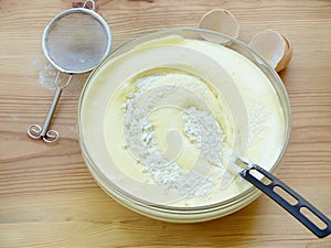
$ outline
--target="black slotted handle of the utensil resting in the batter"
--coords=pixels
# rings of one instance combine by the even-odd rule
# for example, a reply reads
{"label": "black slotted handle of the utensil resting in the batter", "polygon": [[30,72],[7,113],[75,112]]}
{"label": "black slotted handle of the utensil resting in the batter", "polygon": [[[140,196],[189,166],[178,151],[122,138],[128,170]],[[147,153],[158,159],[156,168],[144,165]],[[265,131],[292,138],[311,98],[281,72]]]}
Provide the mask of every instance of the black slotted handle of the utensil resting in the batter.
{"label": "black slotted handle of the utensil resting in the batter", "polygon": [[[257,171],[260,174],[265,175],[271,182],[266,184],[264,181],[256,179],[252,171]],[[317,237],[323,238],[331,234],[331,222],[330,219],[323,215],[320,211],[318,211],[313,205],[307,202],[302,196],[300,196],[297,192],[281,182],[279,179],[264,170],[263,168],[250,164],[246,169],[242,170],[239,174],[247,180],[249,183],[255,185],[270,198],[273,198],[276,203],[278,203],[281,207],[284,207],[288,213],[295,216],[300,223],[302,223],[309,230],[311,230]],[[296,200],[296,204],[289,203],[286,198],[284,198],[280,194],[275,191],[275,187],[281,188],[284,192],[288,194],[290,197]],[[321,229],[316,223],[313,223],[310,218],[308,218],[305,214],[302,214],[301,209],[307,208],[310,214],[313,214],[319,220],[321,220],[324,227]]]}

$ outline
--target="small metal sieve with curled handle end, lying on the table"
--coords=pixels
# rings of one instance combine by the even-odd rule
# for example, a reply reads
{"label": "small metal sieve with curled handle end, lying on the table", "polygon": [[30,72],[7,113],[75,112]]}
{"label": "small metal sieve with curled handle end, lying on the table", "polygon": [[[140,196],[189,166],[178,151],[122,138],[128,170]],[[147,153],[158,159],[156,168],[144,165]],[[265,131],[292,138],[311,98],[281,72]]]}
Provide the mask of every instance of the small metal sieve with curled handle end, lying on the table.
{"label": "small metal sieve with curled handle end, lying on the table", "polygon": [[[90,3],[92,9],[87,9]],[[87,0],[82,8],[74,8],[57,14],[46,25],[42,46],[46,58],[58,71],[55,79],[56,91],[43,127],[32,125],[28,134],[33,139],[55,142],[60,133],[49,130],[62,90],[68,86],[74,74],[82,74],[96,67],[109,53],[110,29],[95,12],[95,2]],[[61,83],[61,73],[68,74],[66,83]]]}

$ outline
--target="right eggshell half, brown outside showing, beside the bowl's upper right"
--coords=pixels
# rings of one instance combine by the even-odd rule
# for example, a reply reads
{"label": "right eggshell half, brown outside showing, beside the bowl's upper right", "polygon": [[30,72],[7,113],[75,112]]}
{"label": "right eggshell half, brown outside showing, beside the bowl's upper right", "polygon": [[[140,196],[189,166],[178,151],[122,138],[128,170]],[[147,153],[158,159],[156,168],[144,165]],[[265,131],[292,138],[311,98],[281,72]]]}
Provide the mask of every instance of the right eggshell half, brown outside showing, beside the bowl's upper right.
{"label": "right eggshell half, brown outside showing, beside the bowl's upper right", "polygon": [[258,52],[276,72],[284,69],[292,57],[289,41],[274,30],[257,33],[250,40],[249,46]]}

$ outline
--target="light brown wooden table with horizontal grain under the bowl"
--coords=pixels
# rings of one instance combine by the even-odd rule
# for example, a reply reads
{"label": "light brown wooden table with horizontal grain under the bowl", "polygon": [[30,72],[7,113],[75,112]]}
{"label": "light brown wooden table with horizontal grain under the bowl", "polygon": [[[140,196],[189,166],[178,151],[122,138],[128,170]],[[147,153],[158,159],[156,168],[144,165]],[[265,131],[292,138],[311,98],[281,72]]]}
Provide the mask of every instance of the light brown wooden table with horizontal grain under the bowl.
{"label": "light brown wooden table with horizontal grain under the bowl", "polygon": [[[292,133],[279,177],[331,217],[331,1],[109,0],[97,2],[113,30],[113,47],[161,28],[195,26],[203,13],[231,10],[241,40],[271,28],[293,57],[280,76],[292,108]],[[68,0],[0,1],[0,247],[331,247],[260,196],[229,216],[169,224],[136,214],[97,186],[83,161],[77,101],[87,75],[76,77],[57,106],[55,144],[26,136],[43,123],[54,69],[41,37]]]}

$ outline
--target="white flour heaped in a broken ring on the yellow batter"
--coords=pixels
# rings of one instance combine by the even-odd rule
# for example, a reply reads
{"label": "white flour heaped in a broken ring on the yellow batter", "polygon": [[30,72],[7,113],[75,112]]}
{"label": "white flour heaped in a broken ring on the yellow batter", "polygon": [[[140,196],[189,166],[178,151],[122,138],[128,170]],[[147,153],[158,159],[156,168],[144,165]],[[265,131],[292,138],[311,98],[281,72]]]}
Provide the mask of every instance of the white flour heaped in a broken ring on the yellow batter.
{"label": "white flour heaped in a broken ring on the yellow batter", "polygon": [[[209,175],[194,170],[182,169],[175,161],[168,161],[160,151],[156,139],[154,127],[149,121],[149,114],[164,98],[175,96],[173,85],[164,85],[153,90],[149,86],[159,76],[148,76],[137,80],[137,90],[128,94],[122,105],[125,112],[125,143],[131,155],[140,163],[146,173],[146,182],[151,180],[163,188],[177,190],[184,196],[204,196],[211,193],[214,184]],[[195,107],[183,109],[185,136],[196,144],[206,161],[212,165],[220,164],[220,153],[224,134],[212,115],[197,110]],[[224,170],[216,169],[217,173]],[[216,172],[216,171],[214,171]]]}

